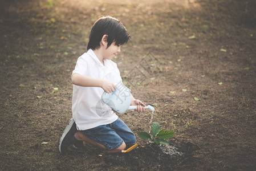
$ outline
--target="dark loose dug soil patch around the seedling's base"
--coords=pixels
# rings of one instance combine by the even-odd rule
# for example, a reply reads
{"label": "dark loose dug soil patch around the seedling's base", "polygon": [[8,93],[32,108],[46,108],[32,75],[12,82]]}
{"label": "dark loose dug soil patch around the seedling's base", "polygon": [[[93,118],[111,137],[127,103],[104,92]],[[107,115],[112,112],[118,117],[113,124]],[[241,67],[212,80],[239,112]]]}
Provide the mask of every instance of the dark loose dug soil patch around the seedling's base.
{"label": "dark loose dug soil patch around the seedling's base", "polygon": [[179,162],[185,161],[191,156],[198,146],[186,143],[177,145],[157,145],[149,143],[140,145],[129,153],[103,154],[106,166],[126,166],[137,169],[168,168]]}

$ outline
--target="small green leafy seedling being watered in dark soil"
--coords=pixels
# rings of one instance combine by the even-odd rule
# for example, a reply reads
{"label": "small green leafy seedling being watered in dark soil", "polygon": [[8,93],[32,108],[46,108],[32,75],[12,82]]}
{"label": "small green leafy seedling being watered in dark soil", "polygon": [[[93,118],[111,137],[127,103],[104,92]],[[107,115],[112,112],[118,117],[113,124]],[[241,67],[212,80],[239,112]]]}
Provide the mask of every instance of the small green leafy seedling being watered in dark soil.
{"label": "small green leafy seedling being watered in dark soil", "polygon": [[161,126],[159,123],[155,123],[155,122],[152,123],[151,125],[152,137],[147,132],[138,132],[137,134],[141,139],[155,141],[157,145],[159,144],[169,145],[169,142],[167,140],[173,137],[175,132],[166,131],[164,129],[161,129],[160,131],[160,127]]}

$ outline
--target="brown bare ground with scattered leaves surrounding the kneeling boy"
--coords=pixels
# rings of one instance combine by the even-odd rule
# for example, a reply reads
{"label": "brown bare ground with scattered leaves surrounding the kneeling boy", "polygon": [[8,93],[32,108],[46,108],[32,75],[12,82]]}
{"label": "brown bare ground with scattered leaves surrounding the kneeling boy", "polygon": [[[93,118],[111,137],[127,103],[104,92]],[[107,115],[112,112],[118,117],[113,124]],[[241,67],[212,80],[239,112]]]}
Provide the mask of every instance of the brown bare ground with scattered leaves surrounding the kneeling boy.
{"label": "brown bare ground with scattered leaves surrounding the kneeling boy", "polygon": [[[255,1],[0,2],[1,170],[256,170]],[[182,157],[139,137],[126,154],[89,144],[59,153],[71,72],[103,15],[131,34],[114,61],[133,95],[155,105],[153,121],[176,132]],[[119,116],[136,134],[151,114]]]}

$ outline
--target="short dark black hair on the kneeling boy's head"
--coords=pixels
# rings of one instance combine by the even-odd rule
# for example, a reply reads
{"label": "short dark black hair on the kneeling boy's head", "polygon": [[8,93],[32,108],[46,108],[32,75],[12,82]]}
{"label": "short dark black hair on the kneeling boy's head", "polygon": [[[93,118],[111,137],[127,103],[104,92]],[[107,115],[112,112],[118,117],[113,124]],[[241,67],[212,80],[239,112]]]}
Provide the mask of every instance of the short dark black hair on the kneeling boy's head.
{"label": "short dark black hair on the kneeling boy's head", "polygon": [[89,36],[89,42],[87,50],[100,48],[100,41],[103,35],[108,35],[107,48],[115,42],[115,45],[121,46],[128,42],[131,36],[124,25],[116,18],[113,17],[101,17],[92,26],[92,30]]}

